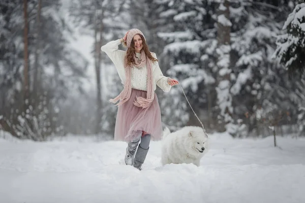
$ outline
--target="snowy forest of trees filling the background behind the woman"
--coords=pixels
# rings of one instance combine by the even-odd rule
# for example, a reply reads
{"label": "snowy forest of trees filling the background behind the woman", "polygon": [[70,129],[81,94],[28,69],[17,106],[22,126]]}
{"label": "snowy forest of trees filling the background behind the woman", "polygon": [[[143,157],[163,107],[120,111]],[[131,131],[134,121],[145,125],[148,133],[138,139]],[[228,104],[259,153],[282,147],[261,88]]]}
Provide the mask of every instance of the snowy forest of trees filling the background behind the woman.
{"label": "snowy forest of trees filling the background behind the woman", "polygon": [[[207,132],[304,136],[302,0],[3,0],[0,8],[0,129],[16,138],[111,140],[109,99],[123,86],[100,48],[131,28],[143,30]],[[200,126],[180,86],[156,92],[166,126]]]}

